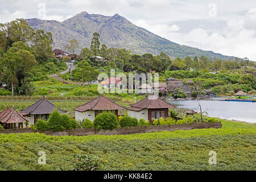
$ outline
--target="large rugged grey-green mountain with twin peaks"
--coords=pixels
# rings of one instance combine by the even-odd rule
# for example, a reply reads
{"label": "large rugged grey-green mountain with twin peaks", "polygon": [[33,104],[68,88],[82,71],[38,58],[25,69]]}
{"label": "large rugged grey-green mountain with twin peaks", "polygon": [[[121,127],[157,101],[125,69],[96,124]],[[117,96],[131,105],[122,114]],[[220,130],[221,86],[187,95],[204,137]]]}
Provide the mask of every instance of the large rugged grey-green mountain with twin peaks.
{"label": "large rugged grey-green mountain with twin peaks", "polygon": [[104,16],[88,14],[85,11],[69,18],[64,22],[56,20],[40,20],[36,18],[26,19],[27,23],[34,30],[42,29],[52,32],[55,45],[53,48],[63,48],[69,40],[76,39],[80,48],[90,47],[92,35],[98,32],[101,35],[101,44],[108,48],[118,47],[131,50],[133,53],[152,53],[158,55],[161,51],[172,58],[185,56],[207,56],[220,59],[234,59],[212,51],[203,51],[198,48],[181,46],[170,40],[152,34],[144,28],[135,26],[124,17],[115,14]]}

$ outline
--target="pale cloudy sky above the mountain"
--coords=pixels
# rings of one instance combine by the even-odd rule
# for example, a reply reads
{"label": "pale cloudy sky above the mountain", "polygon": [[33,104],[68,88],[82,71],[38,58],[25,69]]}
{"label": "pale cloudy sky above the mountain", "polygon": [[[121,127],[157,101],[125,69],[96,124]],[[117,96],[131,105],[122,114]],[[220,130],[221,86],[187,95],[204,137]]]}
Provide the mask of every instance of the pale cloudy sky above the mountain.
{"label": "pale cloudy sky above the mountain", "polygon": [[0,23],[16,18],[58,20],[81,11],[119,14],[172,42],[256,61],[253,0],[0,0]]}

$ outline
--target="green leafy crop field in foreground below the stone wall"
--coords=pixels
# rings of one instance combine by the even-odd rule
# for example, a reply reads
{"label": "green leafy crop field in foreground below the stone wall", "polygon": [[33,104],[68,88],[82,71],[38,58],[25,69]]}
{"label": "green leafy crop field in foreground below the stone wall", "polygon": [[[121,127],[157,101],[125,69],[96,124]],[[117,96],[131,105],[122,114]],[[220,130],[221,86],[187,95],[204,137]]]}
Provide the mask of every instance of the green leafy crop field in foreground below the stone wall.
{"label": "green leafy crop field in foreground below the stone wall", "polygon": [[[72,168],[73,154],[99,156],[109,170],[255,170],[255,125],[225,121],[222,129],[164,131],[149,134],[52,137],[0,135],[0,169]],[[47,164],[37,163],[46,151]],[[208,164],[209,151],[217,165]]]}

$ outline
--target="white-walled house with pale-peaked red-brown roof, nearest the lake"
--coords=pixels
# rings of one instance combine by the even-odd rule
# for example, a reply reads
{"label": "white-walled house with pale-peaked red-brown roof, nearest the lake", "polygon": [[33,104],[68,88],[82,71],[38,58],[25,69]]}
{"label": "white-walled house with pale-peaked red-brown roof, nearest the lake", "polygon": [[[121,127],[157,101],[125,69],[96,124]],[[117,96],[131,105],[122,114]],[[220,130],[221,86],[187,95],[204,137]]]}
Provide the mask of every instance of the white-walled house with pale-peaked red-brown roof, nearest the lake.
{"label": "white-walled house with pale-peaked red-brown roof, nearest the lake", "polygon": [[127,108],[128,115],[132,118],[145,119],[146,121],[154,121],[154,119],[167,118],[168,108],[176,106],[161,100],[159,97],[149,95],[143,100],[130,105]]}

